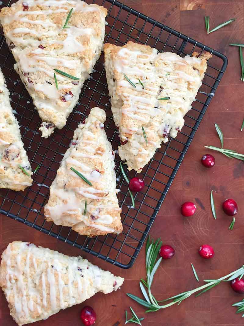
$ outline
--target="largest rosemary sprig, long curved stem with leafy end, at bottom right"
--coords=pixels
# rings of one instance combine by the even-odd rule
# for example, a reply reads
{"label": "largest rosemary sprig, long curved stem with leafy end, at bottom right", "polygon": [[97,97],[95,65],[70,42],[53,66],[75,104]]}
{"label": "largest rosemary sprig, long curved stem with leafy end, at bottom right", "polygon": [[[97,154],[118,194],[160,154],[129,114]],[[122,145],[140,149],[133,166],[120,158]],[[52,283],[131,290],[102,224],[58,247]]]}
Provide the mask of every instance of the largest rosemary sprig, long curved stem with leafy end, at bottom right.
{"label": "largest rosemary sprig, long curved stem with leafy end, at bottom right", "polygon": [[[162,242],[160,241],[160,238],[157,239],[154,243],[153,239],[151,241],[150,237],[148,237],[147,244],[146,244],[147,281],[143,280],[143,282],[142,282],[142,279],[141,279],[141,282],[140,282],[140,288],[141,288],[144,299],[141,299],[133,294],[127,293],[127,295],[131,299],[135,300],[137,303],[146,307],[147,308],[146,312],[153,312],[153,311],[157,311],[159,309],[165,309],[165,308],[168,308],[171,305],[176,304],[176,303],[179,305],[184,299],[190,297],[192,294],[194,294],[196,292],[201,291],[200,293],[197,294],[197,296],[198,296],[198,295],[208,291],[209,289],[213,288],[214,286],[218,285],[219,283],[221,283],[221,281],[224,281],[225,279],[227,279],[228,281],[231,281],[232,279],[234,279],[244,273],[244,265],[243,265],[236,271],[234,271],[228,275],[225,275],[217,280],[213,280],[212,282],[210,282],[208,284],[204,284],[196,289],[177,294],[171,298],[161,301],[161,302],[166,302],[166,301],[170,300],[171,302],[168,304],[159,305],[160,301],[157,301],[155,299],[155,297],[153,296],[153,294],[151,293],[151,285],[153,282],[154,274],[156,273],[156,270],[157,270],[157,268],[161,262],[161,259],[162,259],[162,258],[159,258],[156,261],[161,244],[162,244]],[[145,287],[147,288],[147,290],[145,289]]]}

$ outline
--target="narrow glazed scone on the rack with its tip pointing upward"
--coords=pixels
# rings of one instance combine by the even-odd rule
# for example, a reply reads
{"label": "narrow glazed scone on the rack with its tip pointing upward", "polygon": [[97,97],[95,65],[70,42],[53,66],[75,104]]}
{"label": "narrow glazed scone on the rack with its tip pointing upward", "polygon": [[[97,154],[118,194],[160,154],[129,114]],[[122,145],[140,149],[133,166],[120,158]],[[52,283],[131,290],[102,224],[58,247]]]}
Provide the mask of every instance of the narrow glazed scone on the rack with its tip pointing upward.
{"label": "narrow glazed scone on the rack with its tip pointing upward", "polygon": [[122,231],[114,155],[104,131],[105,120],[105,111],[93,108],[86,121],[79,124],[45,206],[48,221],[88,236]]}

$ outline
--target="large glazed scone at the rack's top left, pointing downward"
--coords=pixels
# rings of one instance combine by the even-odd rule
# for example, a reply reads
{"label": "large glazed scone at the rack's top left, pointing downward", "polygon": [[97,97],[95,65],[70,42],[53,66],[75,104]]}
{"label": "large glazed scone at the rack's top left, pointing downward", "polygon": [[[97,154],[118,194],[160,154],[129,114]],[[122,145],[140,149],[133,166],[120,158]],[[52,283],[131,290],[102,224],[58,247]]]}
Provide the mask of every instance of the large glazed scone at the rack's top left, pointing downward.
{"label": "large glazed scone at the rack's top left, pointing downward", "polygon": [[106,15],[104,7],[80,0],[19,0],[2,8],[0,21],[17,62],[14,67],[43,120],[42,137],[65,126],[101,54]]}

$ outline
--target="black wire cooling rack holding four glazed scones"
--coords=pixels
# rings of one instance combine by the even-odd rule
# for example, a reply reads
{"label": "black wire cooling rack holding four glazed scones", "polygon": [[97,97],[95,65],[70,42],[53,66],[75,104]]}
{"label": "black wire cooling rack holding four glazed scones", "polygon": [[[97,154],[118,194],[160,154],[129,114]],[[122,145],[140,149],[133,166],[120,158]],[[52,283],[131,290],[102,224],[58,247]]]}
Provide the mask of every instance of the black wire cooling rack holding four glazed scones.
{"label": "black wire cooling rack holding four glazed scones", "polygon": [[[15,1],[13,1],[15,2]],[[87,1],[88,3],[91,3]],[[11,5],[11,2],[3,6]],[[140,177],[145,187],[135,194],[135,209],[130,207],[131,199],[124,178],[120,175],[117,164],[117,188],[119,204],[122,208],[123,232],[119,235],[108,234],[88,238],[78,235],[67,227],[58,227],[44,219],[44,205],[47,203],[49,186],[55,178],[61,159],[69,147],[77,124],[87,117],[91,108],[99,106],[106,110],[105,130],[113,149],[119,144],[108,96],[108,89],[103,65],[103,55],[81,91],[80,100],[70,114],[67,125],[56,129],[48,138],[41,138],[38,128],[40,118],[34,110],[33,102],[25,90],[19,76],[13,69],[14,59],[9,52],[3,34],[0,39],[0,63],[10,91],[11,105],[20,123],[22,140],[27,149],[32,170],[40,164],[34,175],[34,183],[24,192],[1,189],[0,213],[20,221],[36,230],[49,234],[75,247],[122,268],[130,268],[155,220],[158,210],[169,190],[183,157],[195,135],[214,95],[215,90],[227,66],[227,58],[177,31],[142,15],[117,1],[95,0],[93,3],[108,9],[105,41],[119,46],[129,40],[155,47],[158,51],[170,51],[180,55],[192,54],[193,51],[209,51],[212,58],[208,62],[203,84],[198,92],[192,110],[185,116],[185,126],[176,139],[170,139],[156,151],[153,159],[146,165]],[[116,155],[116,162],[119,157]],[[129,178],[135,171],[127,171]],[[14,232],[14,230],[13,230]]]}

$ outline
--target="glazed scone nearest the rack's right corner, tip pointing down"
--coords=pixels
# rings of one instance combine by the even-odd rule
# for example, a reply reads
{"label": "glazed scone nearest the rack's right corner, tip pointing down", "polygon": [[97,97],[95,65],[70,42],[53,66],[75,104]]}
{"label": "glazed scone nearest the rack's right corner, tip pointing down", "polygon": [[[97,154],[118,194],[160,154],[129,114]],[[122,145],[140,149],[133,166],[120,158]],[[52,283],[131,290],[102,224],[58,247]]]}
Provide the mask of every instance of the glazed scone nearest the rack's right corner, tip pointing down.
{"label": "glazed scone nearest the rack's right corner, tip pointing down", "polygon": [[[183,127],[183,116],[191,109],[211,55],[194,52],[183,58],[133,42],[123,47],[105,44],[104,54],[121,139],[118,153],[129,170],[141,172],[161,142],[169,135],[176,137]],[[165,97],[170,99],[160,100]]]}

